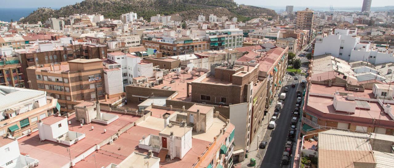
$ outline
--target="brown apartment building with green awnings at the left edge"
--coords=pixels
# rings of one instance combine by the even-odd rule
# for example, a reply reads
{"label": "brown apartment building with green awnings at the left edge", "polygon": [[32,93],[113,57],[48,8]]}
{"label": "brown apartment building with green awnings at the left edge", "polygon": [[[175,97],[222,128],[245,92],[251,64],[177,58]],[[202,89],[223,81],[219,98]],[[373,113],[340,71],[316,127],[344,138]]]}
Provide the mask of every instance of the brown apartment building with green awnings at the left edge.
{"label": "brown apartment building with green awnings at the left edge", "polygon": [[24,88],[23,72],[18,57],[0,58],[0,85]]}

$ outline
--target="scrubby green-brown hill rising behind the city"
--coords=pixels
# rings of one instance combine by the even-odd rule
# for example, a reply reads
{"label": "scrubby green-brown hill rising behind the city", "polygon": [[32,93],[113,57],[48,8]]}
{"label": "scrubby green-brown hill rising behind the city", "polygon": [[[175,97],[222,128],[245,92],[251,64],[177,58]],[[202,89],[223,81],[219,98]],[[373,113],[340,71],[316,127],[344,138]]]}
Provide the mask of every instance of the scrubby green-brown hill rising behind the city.
{"label": "scrubby green-brown hill rising behind the city", "polygon": [[156,14],[179,14],[184,19],[197,19],[200,14],[238,17],[247,21],[258,16],[276,16],[275,11],[250,5],[238,6],[233,0],[84,0],[58,10],[39,8],[20,22],[44,22],[50,17],[67,17],[74,13],[100,13],[106,18],[119,19],[123,13],[134,12],[149,20]]}

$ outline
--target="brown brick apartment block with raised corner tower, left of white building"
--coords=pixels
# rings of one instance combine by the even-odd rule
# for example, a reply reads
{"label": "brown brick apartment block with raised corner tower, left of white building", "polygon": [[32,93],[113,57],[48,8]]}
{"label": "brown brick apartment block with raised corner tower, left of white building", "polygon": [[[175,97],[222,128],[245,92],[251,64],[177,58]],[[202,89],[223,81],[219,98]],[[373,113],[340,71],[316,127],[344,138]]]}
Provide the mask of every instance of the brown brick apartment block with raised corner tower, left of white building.
{"label": "brown brick apartment block with raised corner tower, left of white building", "polygon": [[30,66],[26,73],[30,87],[58,99],[62,113],[74,110],[80,100],[96,99],[95,88],[99,97],[104,95],[103,61],[98,58]]}

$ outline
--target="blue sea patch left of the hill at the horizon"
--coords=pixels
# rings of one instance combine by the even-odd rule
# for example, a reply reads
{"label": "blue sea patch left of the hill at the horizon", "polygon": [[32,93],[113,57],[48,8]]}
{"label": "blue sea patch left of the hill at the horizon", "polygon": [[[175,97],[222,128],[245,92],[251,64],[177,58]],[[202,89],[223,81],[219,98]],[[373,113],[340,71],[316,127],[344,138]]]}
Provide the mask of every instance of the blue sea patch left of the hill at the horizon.
{"label": "blue sea patch left of the hill at the horizon", "polygon": [[11,22],[18,21],[22,17],[28,16],[37,8],[0,8],[0,20]]}

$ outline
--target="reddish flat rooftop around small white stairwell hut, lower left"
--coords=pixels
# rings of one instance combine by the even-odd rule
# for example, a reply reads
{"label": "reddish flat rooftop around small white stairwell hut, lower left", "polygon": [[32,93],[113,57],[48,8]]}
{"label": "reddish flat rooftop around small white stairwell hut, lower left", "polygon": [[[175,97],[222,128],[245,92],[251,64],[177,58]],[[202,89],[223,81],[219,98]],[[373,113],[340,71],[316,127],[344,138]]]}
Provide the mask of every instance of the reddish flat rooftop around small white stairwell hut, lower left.
{"label": "reddish flat rooftop around small white stairwell hut, lower left", "polygon": [[[102,112],[110,113],[105,111]],[[38,159],[40,161],[38,167],[64,166],[70,161],[69,155],[71,155],[71,158],[74,159],[78,155],[85,152],[87,149],[93,147],[95,144],[99,144],[100,142],[109,138],[111,135],[115,134],[121,128],[139,119],[139,117],[121,113],[111,114],[118,115],[119,119],[108,125],[92,122],[90,124],[84,125],[82,128],[80,127],[79,121],[76,121],[75,115],[69,117],[68,121],[71,122],[71,124],[69,124],[69,130],[84,133],[86,135],[84,139],[78,141],[72,146],[67,146],[48,140],[41,142],[39,133],[36,131],[32,133],[32,135],[22,137],[18,140],[20,152],[27,153],[30,155],[30,157]],[[94,130],[91,130],[91,126],[94,127]],[[103,131],[104,128],[106,129],[106,133]],[[70,153],[67,152],[67,148],[69,148]],[[54,161],[54,158],[56,158],[56,161]],[[108,166],[108,164],[106,166]]]}

